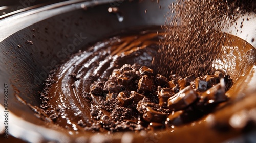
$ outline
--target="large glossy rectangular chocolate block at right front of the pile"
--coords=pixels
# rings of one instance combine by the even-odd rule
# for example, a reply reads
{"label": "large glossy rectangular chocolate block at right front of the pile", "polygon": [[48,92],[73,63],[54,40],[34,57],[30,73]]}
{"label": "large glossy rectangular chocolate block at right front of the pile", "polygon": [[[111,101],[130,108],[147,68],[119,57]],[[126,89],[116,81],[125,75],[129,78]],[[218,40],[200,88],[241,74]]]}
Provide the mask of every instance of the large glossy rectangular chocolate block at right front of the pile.
{"label": "large glossy rectangular chocolate block at right front of the pile", "polygon": [[197,92],[193,90],[190,86],[187,86],[179,93],[175,94],[173,97],[168,99],[168,108],[173,111],[179,111],[197,99]]}

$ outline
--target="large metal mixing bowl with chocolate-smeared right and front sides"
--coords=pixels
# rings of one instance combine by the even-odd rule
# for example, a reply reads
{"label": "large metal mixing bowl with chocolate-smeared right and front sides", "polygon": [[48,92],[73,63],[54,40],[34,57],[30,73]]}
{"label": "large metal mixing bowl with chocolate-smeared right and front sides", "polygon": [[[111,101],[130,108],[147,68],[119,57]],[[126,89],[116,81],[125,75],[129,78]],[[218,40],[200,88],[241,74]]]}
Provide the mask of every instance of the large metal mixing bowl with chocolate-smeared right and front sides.
{"label": "large metal mixing bowl with chocolate-smeared right and front sides", "polygon": [[[0,109],[2,113],[8,111],[9,135],[28,142],[212,142],[209,138],[224,141],[243,134],[240,128],[234,127],[220,133],[214,127],[216,123],[226,124],[234,114],[256,110],[253,102],[256,101],[256,51],[251,48],[256,47],[256,40],[251,40],[256,37],[255,13],[244,15],[251,19],[244,22],[243,33],[237,32],[232,26],[223,29],[246,40],[247,44],[243,45],[240,40],[235,43],[236,50],[229,53],[221,51],[222,57],[215,59],[213,66],[225,70],[233,79],[234,84],[227,92],[230,100],[197,122],[196,126],[191,124],[178,127],[176,131],[158,130],[150,133],[73,134],[37,118],[30,108],[40,106],[42,83],[58,63],[78,50],[86,50],[87,45],[123,29],[163,25],[171,2],[67,1],[4,17],[0,21]],[[109,7],[118,7],[121,13],[109,13]],[[5,110],[3,102],[6,85],[8,110]],[[3,116],[1,120],[4,120]],[[2,131],[5,129],[2,122],[0,127]],[[195,138],[198,134],[204,135]]]}

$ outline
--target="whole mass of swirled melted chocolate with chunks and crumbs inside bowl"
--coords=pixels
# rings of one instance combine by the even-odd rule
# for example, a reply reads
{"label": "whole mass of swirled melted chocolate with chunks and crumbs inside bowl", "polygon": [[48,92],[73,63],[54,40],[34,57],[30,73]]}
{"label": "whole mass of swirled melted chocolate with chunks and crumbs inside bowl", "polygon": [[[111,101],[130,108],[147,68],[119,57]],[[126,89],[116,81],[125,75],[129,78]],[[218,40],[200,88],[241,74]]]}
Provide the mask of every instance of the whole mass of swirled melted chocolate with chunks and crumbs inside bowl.
{"label": "whole mass of swirled melted chocolate with chunks and crumbs inside bowl", "polygon": [[152,130],[194,121],[225,102],[232,82],[221,71],[167,79],[151,69],[161,31],[112,37],[57,67],[41,93],[45,120],[72,131]]}

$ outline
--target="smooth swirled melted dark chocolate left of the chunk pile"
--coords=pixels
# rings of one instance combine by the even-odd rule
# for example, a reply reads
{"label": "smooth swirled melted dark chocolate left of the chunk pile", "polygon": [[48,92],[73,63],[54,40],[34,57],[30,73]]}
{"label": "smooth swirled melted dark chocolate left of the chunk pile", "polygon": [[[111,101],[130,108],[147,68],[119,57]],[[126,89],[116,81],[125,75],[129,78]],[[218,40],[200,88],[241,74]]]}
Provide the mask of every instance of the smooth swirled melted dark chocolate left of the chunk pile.
{"label": "smooth swirled melted dark chocolate left of the chunk pile", "polygon": [[[100,107],[101,97],[95,97],[94,102],[88,99],[91,84],[105,82],[114,69],[124,64],[154,67],[152,61],[159,49],[158,41],[164,35],[161,31],[160,28],[136,30],[110,38],[73,55],[58,67],[47,79],[42,94],[44,104],[41,108],[45,109],[51,122],[68,130],[84,131],[84,126],[94,126],[98,121],[91,116],[92,106],[97,106],[98,112],[109,115]],[[219,64],[216,61],[210,61],[214,67]]]}

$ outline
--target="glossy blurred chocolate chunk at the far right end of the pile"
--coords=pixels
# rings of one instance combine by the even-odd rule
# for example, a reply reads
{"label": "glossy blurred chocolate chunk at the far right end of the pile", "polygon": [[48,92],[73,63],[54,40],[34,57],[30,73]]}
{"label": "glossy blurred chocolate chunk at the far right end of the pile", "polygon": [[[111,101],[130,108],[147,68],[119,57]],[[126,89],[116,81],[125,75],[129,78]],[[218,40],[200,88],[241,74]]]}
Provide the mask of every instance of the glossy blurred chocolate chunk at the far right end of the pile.
{"label": "glossy blurred chocolate chunk at the far right end of the pile", "polygon": [[221,79],[221,82],[211,87],[207,91],[205,91],[200,99],[203,100],[205,105],[215,104],[224,102],[227,100],[227,96],[225,95],[225,83],[224,79]]}

